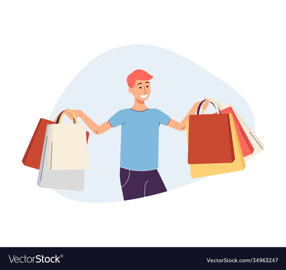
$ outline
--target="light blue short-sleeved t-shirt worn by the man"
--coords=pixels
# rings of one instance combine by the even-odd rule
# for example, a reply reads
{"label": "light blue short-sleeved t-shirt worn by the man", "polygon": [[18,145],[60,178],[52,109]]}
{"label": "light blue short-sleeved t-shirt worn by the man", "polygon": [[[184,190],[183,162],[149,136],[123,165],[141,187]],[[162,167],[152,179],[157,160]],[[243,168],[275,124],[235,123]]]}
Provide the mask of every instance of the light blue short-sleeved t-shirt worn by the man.
{"label": "light blue short-sleeved t-shirt worn by the man", "polygon": [[133,171],[158,168],[159,125],[168,125],[168,115],[157,109],[124,109],[108,121],[112,127],[121,125],[120,167]]}

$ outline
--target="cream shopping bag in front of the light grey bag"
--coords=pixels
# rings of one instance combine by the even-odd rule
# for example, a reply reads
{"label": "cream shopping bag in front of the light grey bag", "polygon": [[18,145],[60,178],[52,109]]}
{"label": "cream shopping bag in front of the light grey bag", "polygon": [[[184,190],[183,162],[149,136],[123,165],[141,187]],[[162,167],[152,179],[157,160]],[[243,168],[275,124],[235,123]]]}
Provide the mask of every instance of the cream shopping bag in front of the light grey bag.
{"label": "cream shopping bag in front of the light grey bag", "polygon": [[57,118],[59,124],[51,124],[47,166],[51,170],[88,169],[86,126],[75,117],[74,124],[61,124],[62,115]]}

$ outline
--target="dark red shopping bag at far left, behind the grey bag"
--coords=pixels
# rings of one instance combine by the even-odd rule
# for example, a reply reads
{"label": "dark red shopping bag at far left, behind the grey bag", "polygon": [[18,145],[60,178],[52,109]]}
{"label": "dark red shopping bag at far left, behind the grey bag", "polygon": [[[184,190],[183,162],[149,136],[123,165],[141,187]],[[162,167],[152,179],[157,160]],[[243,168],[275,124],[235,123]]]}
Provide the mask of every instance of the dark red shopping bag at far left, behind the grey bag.
{"label": "dark red shopping bag at far left, behind the grey bag", "polygon": [[[43,118],[40,119],[36,127],[36,130],[34,132],[34,135],[30,141],[30,144],[27,148],[27,151],[22,160],[25,166],[35,168],[35,169],[40,168],[41,156],[42,156],[42,150],[43,150],[47,125],[58,124],[61,118],[63,117],[64,112],[65,111],[62,111],[61,113],[59,113],[55,121],[50,121],[50,120],[46,120]],[[88,143],[88,137],[89,137],[89,132],[86,131],[86,143]]]}

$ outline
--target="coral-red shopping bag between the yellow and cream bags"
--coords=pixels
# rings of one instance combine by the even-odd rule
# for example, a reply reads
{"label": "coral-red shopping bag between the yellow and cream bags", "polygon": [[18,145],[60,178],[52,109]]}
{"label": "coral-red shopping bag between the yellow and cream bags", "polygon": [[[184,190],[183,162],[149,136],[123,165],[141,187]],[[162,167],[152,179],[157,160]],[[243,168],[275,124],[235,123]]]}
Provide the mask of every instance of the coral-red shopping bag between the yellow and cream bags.
{"label": "coral-red shopping bag between the yellow and cream bags", "polygon": [[[249,139],[248,139],[245,131],[243,130],[239,120],[237,119],[233,109],[231,107],[227,107],[225,109],[221,109],[220,111],[221,111],[221,113],[232,113],[243,157],[251,155],[254,151],[254,148],[251,145],[251,142],[249,141]],[[217,112],[215,114],[217,114]]]}

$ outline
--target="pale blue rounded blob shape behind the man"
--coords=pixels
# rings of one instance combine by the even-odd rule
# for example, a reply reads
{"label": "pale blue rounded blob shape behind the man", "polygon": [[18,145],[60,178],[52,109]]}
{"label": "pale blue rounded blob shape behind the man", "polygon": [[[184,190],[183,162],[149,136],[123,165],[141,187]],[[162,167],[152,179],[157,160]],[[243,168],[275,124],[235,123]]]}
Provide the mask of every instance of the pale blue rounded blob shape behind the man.
{"label": "pale blue rounded blob shape behind the man", "polygon": [[[254,130],[249,105],[231,86],[190,60],[150,45],[119,47],[96,57],[65,89],[49,120],[54,121],[58,113],[66,108],[80,109],[101,125],[117,111],[131,108],[134,97],[128,92],[126,79],[136,69],[143,69],[154,76],[150,80],[150,97],[145,102],[148,108],[159,109],[180,122],[195,102],[206,97],[222,106],[231,103]],[[206,113],[214,111],[208,108]],[[70,123],[70,120],[63,118],[62,123]],[[83,121],[78,118],[78,123]],[[121,126],[101,135],[95,135],[87,126],[86,130],[90,132],[89,169],[85,170],[84,191],[55,191],[77,201],[122,201],[119,177]],[[206,127],[204,132],[211,131]],[[167,190],[202,179],[191,178],[187,151],[186,131],[160,125],[158,171]]]}

